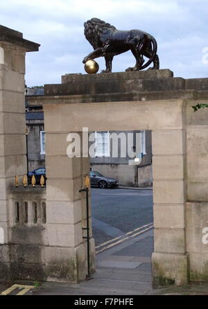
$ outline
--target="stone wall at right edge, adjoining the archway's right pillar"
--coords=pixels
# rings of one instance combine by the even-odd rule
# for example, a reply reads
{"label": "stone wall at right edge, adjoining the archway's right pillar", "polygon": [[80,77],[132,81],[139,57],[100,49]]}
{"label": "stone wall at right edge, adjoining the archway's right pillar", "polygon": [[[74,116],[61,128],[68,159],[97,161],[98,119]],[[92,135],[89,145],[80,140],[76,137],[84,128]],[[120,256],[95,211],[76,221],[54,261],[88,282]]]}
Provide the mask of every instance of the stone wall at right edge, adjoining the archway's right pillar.
{"label": "stone wall at right edge, adjoining the archway's right pillar", "polygon": [[[196,87],[205,80],[192,80]],[[193,112],[187,102],[187,251],[191,281],[208,280],[208,244],[202,242],[208,227],[208,109]],[[208,231],[208,229],[207,229]]]}

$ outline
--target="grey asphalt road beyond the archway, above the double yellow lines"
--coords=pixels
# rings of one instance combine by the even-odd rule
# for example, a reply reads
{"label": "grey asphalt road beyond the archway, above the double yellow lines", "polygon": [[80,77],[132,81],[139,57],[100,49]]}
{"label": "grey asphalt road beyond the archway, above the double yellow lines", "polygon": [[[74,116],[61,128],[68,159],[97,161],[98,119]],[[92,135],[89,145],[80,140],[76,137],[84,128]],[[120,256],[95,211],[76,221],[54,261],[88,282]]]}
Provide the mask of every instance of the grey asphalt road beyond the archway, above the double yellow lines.
{"label": "grey asphalt road beyond the archway, above the double yellow lines", "polygon": [[92,188],[96,246],[153,222],[153,191]]}

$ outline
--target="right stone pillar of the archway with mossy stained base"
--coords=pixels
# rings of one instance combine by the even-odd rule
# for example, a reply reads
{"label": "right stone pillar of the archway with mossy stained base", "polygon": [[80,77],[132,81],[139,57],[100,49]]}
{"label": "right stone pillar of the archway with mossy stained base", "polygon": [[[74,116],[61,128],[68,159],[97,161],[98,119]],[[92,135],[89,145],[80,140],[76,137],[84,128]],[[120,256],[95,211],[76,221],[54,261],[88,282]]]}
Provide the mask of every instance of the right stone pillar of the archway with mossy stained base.
{"label": "right stone pillar of the archway with mossy stained base", "polygon": [[184,131],[153,131],[155,249],[153,284],[188,281],[185,239],[186,182]]}

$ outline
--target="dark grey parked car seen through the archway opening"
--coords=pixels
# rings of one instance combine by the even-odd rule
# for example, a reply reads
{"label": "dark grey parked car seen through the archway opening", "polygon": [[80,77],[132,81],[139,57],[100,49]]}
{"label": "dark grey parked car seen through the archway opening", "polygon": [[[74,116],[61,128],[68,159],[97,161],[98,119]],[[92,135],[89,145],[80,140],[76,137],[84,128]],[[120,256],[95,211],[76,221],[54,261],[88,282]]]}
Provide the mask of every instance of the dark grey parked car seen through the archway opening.
{"label": "dark grey parked car seen through the archway opening", "polygon": [[105,177],[101,173],[91,170],[89,172],[91,186],[98,186],[98,188],[113,188],[119,186],[116,179]]}

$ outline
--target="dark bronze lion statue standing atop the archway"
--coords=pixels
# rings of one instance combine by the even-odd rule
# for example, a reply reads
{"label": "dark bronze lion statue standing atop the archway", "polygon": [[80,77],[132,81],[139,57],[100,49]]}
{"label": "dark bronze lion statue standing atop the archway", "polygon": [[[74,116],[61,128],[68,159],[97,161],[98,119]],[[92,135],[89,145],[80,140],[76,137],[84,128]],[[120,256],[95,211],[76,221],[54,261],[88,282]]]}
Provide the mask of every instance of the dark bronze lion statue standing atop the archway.
{"label": "dark bronze lion statue standing atop the archway", "polygon": [[[105,58],[105,71],[112,71],[112,60],[115,55],[132,51],[136,58],[135,67],[130,67],[125,71],[139,71],[146,69],[151,62],[153,67],[150,69],[159,69],[159,57],[157,55],[157,42],[155,38],[141,30],[117,30],[114,26],[105,21],[92,18],[85,22],[85,37],[92,45],[94,51],[89,53],[83,63],[94,58]],[[144,56],[148,58],[144,64]]]}

